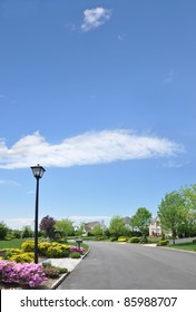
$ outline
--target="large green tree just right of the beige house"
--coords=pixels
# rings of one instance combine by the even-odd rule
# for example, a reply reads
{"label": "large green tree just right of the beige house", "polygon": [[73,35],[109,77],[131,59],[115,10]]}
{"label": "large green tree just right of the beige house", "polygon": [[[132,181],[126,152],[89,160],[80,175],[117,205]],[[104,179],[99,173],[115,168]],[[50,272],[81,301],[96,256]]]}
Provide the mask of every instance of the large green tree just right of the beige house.
{"label": "large green tree just right of the beige house", "polygon": [[187,206],[182,194],[175,191],[166,194],[158,206],[158,216],[161,228],[171,232],[173,243],[175,244],[178,228],[187,220]]}

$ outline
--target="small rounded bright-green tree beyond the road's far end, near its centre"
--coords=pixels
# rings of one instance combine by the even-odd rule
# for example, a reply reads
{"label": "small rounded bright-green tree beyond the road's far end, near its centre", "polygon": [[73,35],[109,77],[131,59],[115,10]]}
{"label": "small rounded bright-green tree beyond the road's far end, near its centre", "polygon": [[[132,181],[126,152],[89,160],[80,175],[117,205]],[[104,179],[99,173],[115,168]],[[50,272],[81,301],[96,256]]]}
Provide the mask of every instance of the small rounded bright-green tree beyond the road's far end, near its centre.
{"label": "small rounded bright-green tree beyond the road's far end, near its centre", "polygon": [[119,236],[127,234],[127,227],[124,223],[124,218],[121,216],[114,216],[110,220],[108,231],[111,236],[118,238]]}

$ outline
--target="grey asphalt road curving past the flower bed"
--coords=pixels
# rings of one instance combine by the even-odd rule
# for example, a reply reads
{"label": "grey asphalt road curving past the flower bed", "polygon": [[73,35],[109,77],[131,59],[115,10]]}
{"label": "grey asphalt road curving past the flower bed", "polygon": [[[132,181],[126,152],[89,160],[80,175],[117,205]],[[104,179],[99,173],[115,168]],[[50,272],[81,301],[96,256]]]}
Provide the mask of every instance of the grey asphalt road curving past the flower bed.
{"label": "grey asphalt road curving past the flower bed", "polygon": [[59,290],[196,290],[196,253],[90,242]]}

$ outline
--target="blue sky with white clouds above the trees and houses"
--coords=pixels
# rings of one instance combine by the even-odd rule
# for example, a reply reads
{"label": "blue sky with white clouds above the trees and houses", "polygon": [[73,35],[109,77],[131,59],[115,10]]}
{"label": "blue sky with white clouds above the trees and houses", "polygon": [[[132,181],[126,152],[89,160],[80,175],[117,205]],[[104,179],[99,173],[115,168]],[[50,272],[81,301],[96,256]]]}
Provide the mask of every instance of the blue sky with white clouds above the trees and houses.
{"label": "blue sky with white clouds above the trees and houses", "polygon": [[0,209],[156,215],[196,182],[194,0],[0,0]]}

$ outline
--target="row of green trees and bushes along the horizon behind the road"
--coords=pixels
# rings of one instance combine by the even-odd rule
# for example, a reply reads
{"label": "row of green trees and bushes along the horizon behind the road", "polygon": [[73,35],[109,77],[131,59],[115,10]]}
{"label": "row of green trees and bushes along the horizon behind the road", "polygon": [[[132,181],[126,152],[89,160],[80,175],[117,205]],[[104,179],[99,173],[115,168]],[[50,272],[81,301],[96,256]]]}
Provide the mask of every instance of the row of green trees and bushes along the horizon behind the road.
{"label": "row of green trees and bushes along the horizon behind the road", "polygon": [[[167,193],[158,205],[157,216],[159,217],[161,226],[161,235],[165,236],[170,233],[175,243],[176,236],[188,237],[196,236],[196,184],[182,187],[179,191]],[[96,224],[88,235],[107,236],[118,240],[119,236],[136,236],[145,237],[149,233],[149,225],[151,223],[151,213],[146,207],[139,207],[130,218],[130,224],[125,224],[124,217],[112,216],[108,227],[102,224]],[[39,224],[39,235],[46,237],[65,237],[69,235],[81,236],[85,231],[85,224],[75,226],[69,218],[56,221],[53,217],[47,215]],[[22,231],[14,231],[9,228],[3,222],[0,223],[0,238],[4,237],[32,237],[33,232],[29,226]]]}

